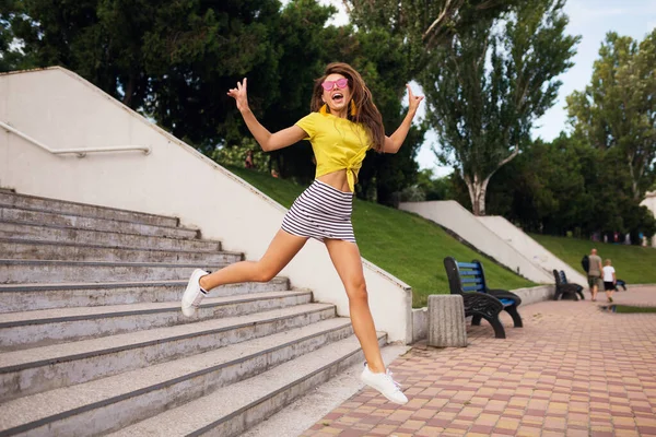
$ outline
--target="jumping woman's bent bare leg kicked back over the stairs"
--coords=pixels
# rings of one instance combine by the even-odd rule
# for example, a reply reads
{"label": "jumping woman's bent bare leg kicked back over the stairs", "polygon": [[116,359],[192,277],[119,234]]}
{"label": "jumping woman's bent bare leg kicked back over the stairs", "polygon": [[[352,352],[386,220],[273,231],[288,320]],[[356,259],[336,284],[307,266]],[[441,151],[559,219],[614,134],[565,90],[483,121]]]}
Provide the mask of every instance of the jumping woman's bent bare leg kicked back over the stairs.
{"label": "jumping woman's bent bare leg kicked back over the stairs", "polygon": [[307,237],[278,231],[259,261],[239,261],[200,279],[200,286],[210,291],[219,285],[238,282],[268,282],[303,248]]}

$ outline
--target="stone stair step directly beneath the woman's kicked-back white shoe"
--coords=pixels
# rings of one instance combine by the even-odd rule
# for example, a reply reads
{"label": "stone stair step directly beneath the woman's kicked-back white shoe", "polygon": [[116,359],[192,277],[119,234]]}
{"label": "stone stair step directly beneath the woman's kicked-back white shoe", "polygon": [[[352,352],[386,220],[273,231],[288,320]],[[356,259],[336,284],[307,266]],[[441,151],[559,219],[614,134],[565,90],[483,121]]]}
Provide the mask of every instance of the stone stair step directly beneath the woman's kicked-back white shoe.
{"label": "stone stair step directly beneath the woman's kicked-back white shoe", "polygon": [[311,300],[308,291],[207,298],[191,318],[183,315],[179,302],[5,312],[0,315],[0,350],[115,335],[293,305],[314,305],[317,310],[335,312],[332,305],[309,304]]}

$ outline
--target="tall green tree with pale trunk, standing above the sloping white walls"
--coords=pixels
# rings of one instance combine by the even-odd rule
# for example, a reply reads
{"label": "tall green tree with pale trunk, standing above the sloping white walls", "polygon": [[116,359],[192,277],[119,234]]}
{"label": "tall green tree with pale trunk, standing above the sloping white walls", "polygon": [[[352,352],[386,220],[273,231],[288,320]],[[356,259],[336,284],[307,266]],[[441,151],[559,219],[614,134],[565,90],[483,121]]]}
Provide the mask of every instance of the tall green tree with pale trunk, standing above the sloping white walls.
{"label": "tall green tree with pale trunk, standing above the sloping white walls", "polygon": [[528,0],[479,20],[430,54],[420,83],[437,156],[460,173],[476,215],[485,214],[491,177],[530,141],[572,66],[578,37],[565,35],[564,0]]}

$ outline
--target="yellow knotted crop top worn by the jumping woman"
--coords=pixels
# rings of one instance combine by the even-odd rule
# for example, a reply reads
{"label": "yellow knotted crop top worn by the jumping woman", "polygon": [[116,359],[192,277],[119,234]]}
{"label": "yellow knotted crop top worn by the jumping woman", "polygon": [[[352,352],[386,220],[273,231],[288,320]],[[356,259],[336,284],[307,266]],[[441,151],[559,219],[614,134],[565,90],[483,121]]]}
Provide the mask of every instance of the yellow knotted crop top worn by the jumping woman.
{"label": "yellow knotted crop top worn by the jumping woman", "polygon": [[347,169],[347,180],[351,191],[355,191],[358,173],[372,141],[364,127],[332,114],[312,113],[296,126],[307,133],[312,143],[317,172],[315,177]]}

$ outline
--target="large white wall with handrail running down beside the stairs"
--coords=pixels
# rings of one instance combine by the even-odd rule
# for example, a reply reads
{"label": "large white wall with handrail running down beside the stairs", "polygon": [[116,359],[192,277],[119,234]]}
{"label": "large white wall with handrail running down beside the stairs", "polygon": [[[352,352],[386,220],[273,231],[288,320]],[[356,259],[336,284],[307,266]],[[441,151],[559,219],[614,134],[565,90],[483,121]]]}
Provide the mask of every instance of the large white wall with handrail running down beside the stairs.
{"label": "large white wall with handrail running down beside the stairs", "polygon": [[[232,108],[226,109],[232,110]],[[145,144],[141,152],[52,155],[0,129],[0,187],[83,203],[178,216],[258,259],[285,209],[85,80],[52,68],[0,75],[0,120],[51,149]],[[376,328],[412,341],[410,287],[364,262]],[[324,245],[311,240],[281,273],[348,316],[348,299]]]}

